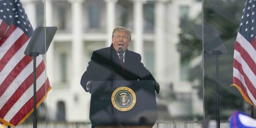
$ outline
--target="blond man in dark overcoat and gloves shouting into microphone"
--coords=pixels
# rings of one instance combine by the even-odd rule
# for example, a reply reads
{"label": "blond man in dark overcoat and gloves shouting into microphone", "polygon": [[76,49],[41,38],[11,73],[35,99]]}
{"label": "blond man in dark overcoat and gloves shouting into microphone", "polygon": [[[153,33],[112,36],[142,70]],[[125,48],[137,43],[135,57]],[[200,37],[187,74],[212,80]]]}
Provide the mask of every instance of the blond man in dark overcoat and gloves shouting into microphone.
{"label": "blond man in dark overcoat and gloves shouting into microphone", "polygon": [[92,81],[153,80],[159,93],[159,84],[144,67],[141,55],[127,49],[130,43],[131,29],[118,26],[113,30],[111,46],[93,52],[80,82],[86,92],[91,93]]}

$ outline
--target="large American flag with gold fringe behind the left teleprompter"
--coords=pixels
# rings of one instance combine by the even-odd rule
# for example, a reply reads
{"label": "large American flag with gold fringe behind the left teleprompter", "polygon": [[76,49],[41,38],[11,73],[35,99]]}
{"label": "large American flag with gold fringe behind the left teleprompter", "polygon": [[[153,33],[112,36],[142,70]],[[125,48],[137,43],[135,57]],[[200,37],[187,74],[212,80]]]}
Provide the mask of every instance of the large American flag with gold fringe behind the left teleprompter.
{"label": "large American flag with gold fringe behind the left teleprompter", "polygon": [[[33,112],[33,58],[24,55],[32,33],[22,3],[0,0],[0,122],[11,127]],[[36,73],[39,106],[51,89],[41,55]]]}

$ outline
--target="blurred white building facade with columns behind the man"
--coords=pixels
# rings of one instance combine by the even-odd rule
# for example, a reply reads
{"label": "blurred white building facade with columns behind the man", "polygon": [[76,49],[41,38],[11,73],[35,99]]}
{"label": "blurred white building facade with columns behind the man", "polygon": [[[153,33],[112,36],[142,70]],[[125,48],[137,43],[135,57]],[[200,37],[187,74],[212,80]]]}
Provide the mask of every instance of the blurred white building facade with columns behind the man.
{"label": "blurred white building facade with columns behind the man", "polygon": [[[22,2],[31,24],[44,26],[44,3]],[[61,112],[67,122],[89,121],[90,94],[84,91],[80,79],[92,52],[111,45],[116,26],[132,30],[128,49],[141,54],[145,67],[160,84],[157,103],[166,105],[170,116],[202,115],[202,100],[182,74],[176,50],[180,17],[196,18],[201,9],[201,2],[196,0],[46,0],[46,26],[58,27],[46,54],[52,86],[46,102],[53,120],[59,107],[64,107]],[[188,99],[189,110],[183,107],[187,102],[170,99],[170,92],[188,94],[181,96]]]}

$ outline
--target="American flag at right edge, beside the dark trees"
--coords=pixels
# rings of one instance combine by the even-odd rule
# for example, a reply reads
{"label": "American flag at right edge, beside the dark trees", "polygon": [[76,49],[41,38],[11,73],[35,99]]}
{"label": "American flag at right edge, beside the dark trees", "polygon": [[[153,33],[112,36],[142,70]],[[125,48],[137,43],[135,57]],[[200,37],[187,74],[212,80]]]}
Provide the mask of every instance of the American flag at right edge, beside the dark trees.
{"label": "American flag at right edge, beside the dark trees", "polygon": [[234,48],[233,86],[256,105],[256,0],[247,0]]}

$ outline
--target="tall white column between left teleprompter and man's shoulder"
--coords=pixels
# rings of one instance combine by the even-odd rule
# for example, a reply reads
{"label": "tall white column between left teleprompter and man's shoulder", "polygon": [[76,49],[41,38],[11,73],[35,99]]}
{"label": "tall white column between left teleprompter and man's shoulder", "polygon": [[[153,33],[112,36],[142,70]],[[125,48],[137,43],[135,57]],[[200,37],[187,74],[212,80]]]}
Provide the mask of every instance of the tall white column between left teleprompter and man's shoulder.
{"label": "tall white column between left teleprompter and man's shoulder", "polygon": [[83,74],[83,40],[82,40],[82,28],[80,22],[82,21],[82,0],[72,0],[71,2],[71,14],[72,14],[72,79],[71,88],[73,90],[80,89],[80,80]]}

